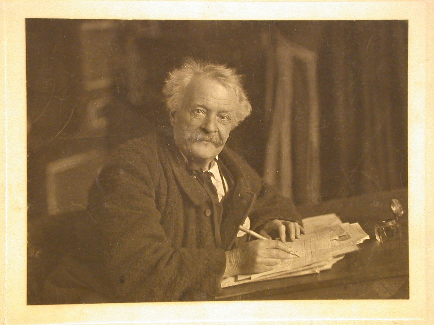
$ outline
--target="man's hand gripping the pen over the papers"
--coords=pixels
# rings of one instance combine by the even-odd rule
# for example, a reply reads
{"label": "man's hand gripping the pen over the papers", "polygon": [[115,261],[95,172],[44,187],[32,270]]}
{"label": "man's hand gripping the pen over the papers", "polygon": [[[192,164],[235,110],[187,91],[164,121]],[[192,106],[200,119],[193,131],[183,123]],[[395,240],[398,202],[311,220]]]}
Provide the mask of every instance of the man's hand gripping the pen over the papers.
{"label": "man's hand gripping the pen over the papers", "polygon": [[279,240],[253,240],[226,252],[224,277],[253,274],[273,269],[291,258],[291,250]]}

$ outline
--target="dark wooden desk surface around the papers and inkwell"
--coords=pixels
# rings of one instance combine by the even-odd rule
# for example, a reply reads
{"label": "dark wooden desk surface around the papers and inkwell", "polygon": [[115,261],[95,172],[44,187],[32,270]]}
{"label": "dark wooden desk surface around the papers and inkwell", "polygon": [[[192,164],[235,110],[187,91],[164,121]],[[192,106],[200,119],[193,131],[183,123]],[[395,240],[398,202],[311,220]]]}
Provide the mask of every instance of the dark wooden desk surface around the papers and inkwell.
{"label": "dark wooden desk surface around the papers and inkwell", "polygon": [[393,217],[392,198],[408,211],[407,189],[299,206],[304,217],[334,212],[343,222],[358,222],[370,239],[331,270],[224,288],[217,299],[408,299],[408,214],[401,221],[401,240],[388,244],[375,240],[375,223]]}

